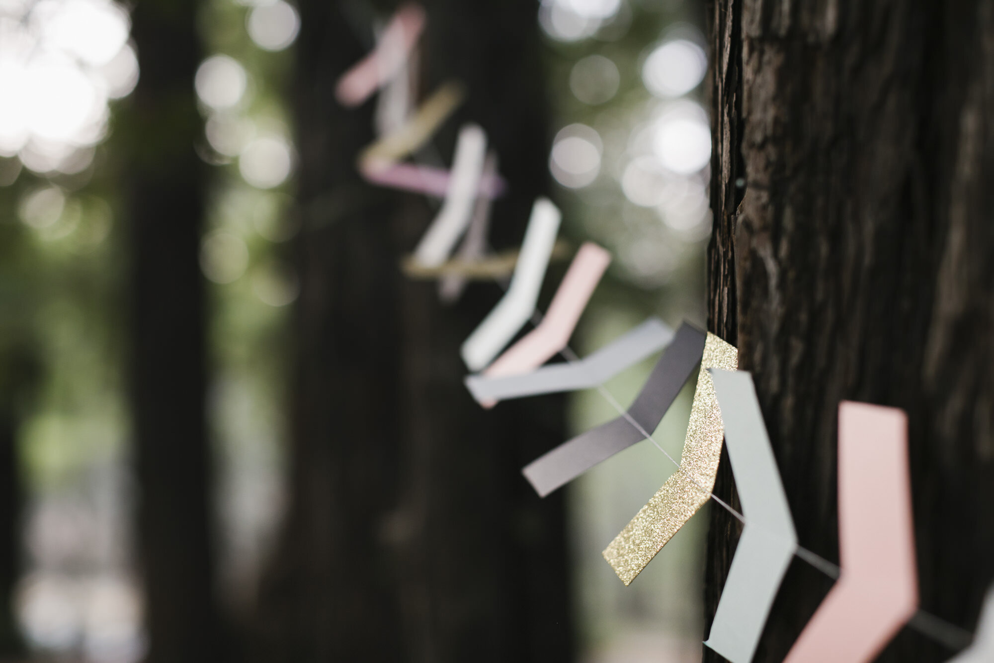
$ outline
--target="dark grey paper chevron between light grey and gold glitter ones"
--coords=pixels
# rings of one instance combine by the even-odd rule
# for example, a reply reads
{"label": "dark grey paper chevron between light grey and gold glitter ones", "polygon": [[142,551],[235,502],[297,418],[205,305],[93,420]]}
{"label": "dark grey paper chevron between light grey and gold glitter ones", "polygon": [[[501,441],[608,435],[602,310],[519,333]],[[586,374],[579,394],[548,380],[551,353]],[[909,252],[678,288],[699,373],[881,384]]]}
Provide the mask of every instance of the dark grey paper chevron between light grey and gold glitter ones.
{"label": "dark grey paper chevron between light grey and gold glitter ones", "polygon": [[684,323],[624,415],[564,442],[522,470],[535,492],[545,497],[644,440],[640,429],[649,433],[656,429],[701,360],[704,347],[705,332]]}

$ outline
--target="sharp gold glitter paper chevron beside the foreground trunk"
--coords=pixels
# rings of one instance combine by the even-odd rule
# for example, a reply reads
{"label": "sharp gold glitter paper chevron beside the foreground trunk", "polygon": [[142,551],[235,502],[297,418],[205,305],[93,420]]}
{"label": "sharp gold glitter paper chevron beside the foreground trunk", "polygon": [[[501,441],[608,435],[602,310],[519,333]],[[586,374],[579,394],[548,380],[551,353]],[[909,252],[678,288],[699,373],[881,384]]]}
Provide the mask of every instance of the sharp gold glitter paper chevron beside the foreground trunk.
{"label": "sharp gold glitter paper chevron beside the foreground trunk", "polygon": [[634,580],[710,499],[722,456],[725,428],[708,368],[736,370],[738,367],[739,350],[709,332],[680,468],[602,553],[625,584]]}

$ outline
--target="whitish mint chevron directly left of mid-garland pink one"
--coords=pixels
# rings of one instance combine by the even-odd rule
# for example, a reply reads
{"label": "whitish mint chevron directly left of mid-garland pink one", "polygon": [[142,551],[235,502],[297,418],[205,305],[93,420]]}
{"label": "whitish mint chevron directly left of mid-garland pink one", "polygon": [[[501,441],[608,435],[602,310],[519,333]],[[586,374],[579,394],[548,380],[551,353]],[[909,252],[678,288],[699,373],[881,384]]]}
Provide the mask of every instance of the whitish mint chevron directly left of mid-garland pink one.
{"label": "whitish mint chevron directly left of mid-garland pink one", "polygon": [[548,198],[535,201],[510,288],[462,343],[462,360],[470,370],[490,363],[531,318],[562,218],[559,208]]}

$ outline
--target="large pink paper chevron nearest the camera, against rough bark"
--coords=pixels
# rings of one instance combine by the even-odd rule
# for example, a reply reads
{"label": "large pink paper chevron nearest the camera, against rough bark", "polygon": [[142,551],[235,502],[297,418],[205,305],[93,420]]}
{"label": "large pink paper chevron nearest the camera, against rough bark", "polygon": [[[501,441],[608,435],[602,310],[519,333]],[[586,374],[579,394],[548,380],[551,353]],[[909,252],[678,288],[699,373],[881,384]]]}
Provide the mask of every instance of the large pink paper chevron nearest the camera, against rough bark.
{"label": "large pink paper chevron nearest the camera, against rough bark", "polygon": [[908,417],[839,404],[841,574],[784,663],[872,661],[918,606]]}

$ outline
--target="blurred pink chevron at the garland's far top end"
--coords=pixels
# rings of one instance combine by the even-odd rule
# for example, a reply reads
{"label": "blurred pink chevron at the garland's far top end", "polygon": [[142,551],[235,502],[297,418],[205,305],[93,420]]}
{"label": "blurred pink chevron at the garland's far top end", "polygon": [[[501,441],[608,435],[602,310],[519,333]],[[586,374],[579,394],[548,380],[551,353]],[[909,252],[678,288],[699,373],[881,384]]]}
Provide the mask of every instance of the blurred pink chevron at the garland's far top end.
{"label": "blurred pink chevron at the garland's far top end", "polygon": [[335,97],[342,106],[359,106],[401,71],[424,22],[424,9],[418,4],[397,10],[373,52],[338,79]]}

